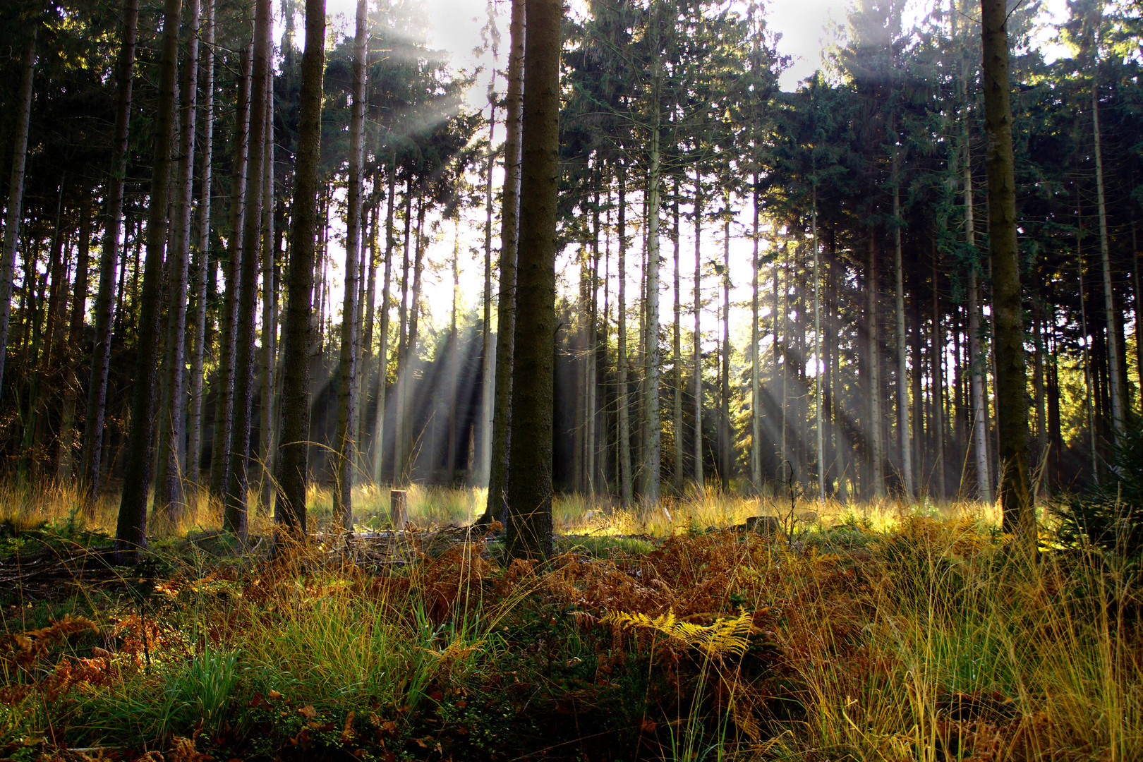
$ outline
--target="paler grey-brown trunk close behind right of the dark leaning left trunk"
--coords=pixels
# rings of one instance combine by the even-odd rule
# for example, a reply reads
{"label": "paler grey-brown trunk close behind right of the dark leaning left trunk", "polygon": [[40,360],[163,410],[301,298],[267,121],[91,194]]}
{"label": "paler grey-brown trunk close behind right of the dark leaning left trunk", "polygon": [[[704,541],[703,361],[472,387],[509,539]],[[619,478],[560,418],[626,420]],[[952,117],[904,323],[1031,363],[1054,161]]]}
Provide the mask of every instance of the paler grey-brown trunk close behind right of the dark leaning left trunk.
{"label": "paler grey-brown trunk close behind right of the dark leaning left trunk", "polygon": [[174,527],[186,510],[184,478],[184,422],[186,400],[184,347],[186,339],[186,291],[191,258],[191,220],[194,190],[194,119],[198,111],[199,0],[186,0],[186,51],[179,96],[182,121],[178,135],[178,194],[174,209],[171,249],[167,257],[169,297],[167,304],[167,356],[163,364],[162,403],[159,407],[159,473],[154,486],[155,518]]}

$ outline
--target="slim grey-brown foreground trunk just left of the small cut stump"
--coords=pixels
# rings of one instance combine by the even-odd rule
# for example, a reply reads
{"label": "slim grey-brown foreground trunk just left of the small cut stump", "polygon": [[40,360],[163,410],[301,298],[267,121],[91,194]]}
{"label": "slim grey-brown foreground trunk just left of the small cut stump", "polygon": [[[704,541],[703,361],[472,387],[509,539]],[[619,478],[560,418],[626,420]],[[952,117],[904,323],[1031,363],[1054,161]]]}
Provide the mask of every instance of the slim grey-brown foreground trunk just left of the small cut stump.
{"label": "slim grey-brown foreground trunk just left of the small cut stump", "polygon": [[342,303],[341,384],[337,393],[336,463],[334,468],[334,513],[342,529],[353,529],[353,464],[357,462],[353,422],[357,420],[358,388],[358,264],[361,256],[361,166],[365,129],[365,45],[366,0],[357,3],[353,35],[353,105],[350,114],[349,219],[345,238],[345,299]]}

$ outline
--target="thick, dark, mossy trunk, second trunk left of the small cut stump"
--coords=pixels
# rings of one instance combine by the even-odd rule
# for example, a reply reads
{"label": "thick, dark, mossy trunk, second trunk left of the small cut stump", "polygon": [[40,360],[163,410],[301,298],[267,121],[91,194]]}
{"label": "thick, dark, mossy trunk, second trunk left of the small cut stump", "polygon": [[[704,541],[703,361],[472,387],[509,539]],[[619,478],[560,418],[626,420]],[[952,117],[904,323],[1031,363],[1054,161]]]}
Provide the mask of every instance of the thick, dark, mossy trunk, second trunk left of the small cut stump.
{"label": "thick, dark, mossy trunk, second trunk left of the small cut stump", "polygon": [[278,523],[305,536],[306,446],[310,428],[309,352],[313,313],[313,263],[318,215],[318,162],[321,158],[321,87],[326,70],[326,0],[305,2],[305,53],[298,105],[294,215],[286,326],[282,336],[282,427],[278,446]]}

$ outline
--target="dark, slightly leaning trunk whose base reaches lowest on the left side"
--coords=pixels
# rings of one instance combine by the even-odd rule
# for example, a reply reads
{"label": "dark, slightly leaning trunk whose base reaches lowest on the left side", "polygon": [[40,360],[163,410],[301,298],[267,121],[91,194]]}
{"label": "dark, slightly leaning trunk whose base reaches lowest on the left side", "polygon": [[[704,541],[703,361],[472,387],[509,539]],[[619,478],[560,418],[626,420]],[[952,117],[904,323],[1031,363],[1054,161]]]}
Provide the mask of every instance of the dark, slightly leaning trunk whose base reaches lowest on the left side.
{"label": "dark, slightly leaning trunk whose base reaches lowest on the left side", "polygon": [[138,551],[146,547],[146,504],[151,487],[151,423],[154,417],[154,383],[159,366],[159,312],[162,299],[163,248],[167,241],[170,144],[175,131],[175,74],[181,10],[181,0],[166,0],[163,3],[159,109],[154,121],[154,165],[151,173],[151,201],[147,211],[138,360],[127,438],[127,458],[123,463],[123,494],[119,503],[119,520],[115,527],[115,556],[119,563],[134,561]]}

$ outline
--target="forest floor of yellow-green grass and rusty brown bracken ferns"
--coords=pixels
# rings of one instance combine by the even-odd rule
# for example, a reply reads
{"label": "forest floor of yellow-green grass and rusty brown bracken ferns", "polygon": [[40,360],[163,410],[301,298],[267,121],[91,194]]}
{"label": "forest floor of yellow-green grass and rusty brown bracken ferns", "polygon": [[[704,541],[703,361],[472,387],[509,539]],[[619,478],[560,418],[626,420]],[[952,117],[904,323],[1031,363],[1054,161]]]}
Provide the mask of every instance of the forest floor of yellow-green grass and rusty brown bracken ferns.
{"label": "forest floor of yellow-green grass and rusty brown bracken ferns", "polygon": [[347,546],[200,500],[125,568],[113,504],[0,495],[0,757],[1143,760],[1137,569],[1029,564],[991,506],[561,498],[505,566],[479,492],[358,497]]}

